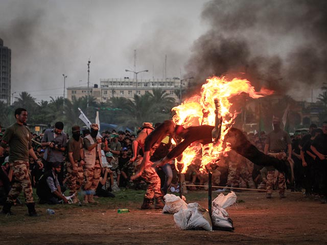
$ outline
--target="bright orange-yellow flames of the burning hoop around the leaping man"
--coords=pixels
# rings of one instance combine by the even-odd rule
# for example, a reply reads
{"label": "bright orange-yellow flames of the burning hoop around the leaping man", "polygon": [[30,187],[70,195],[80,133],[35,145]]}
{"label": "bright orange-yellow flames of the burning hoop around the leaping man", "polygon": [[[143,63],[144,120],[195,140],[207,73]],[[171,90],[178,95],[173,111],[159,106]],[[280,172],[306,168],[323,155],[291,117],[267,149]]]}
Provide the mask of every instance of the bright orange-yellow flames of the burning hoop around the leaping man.
{"label": "bright orange-yellow flames of the burning hoop around the leaping man", "polygon": [[[238,113],[236,111],[230,111],[232,104],[229,100],[241,93],[247,93],[253,99],[258,99],[272,94],[273,91],[261,89],[259,92],[256,92],[254,87],[251,86],[251,83],[245,79],[234,78],[228,81],[225,77],[212,77],[207,79],[206,83],[202,85],[201,95],[186,99],[181,105],[172,109],[175,112],[173,116],[175,124],[182,125],[184,128],[201,125],[203,110],[209,112],[206,124],[214,126],[216,117],[214,99],[219,100],[219,113],[222,117],[220,140],[216,145],[211,143],[205,146],[205,151],[208,154],[202,157],[201,171],[205,171],[208,164],[215,163],[221,154],[226,154],[226,152],[231,150],[228,144],[224,144],[224,138],[233,125]],[[192,160],[197,155],[197,151],[198,148],[191,146],[183,152],[180,161],[176,160],[176,164],[184,164],[181,173],[185,173],[187,166],[192,163]]]}

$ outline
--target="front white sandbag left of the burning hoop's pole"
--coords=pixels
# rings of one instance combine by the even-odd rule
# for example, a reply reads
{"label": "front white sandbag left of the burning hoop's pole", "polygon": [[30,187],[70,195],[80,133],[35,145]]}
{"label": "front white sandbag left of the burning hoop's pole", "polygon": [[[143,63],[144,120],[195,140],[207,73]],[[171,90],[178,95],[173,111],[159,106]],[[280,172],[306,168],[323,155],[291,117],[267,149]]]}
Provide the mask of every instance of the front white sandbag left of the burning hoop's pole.
{"label": "front white sandbag left of the burning hoop's pole", "polygon": [[174,214],[174,221],[182,230],[213,230],[208,211],[198,203],[190,203],[187,209],[179,210]]}

